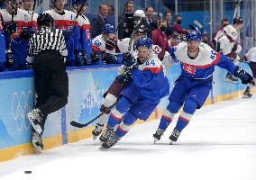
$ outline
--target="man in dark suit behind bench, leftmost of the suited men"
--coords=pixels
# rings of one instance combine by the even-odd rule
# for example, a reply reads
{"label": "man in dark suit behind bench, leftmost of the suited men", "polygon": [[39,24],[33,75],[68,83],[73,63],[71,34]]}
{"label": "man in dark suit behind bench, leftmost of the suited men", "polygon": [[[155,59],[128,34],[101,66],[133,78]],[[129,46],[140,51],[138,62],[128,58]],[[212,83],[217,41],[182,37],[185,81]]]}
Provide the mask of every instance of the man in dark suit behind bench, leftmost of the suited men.
{"label": "man in dark suit behind bench, leftmost of the suited men", "polygon": [[91,23],[91,35],[92,38],[95,38],[96,36],[101,34],[101,30],[106,24],[105,17],[108,14],[108,4],[101,4],[99,6],[99,14],[96,16],[95,19],[92,20]]}

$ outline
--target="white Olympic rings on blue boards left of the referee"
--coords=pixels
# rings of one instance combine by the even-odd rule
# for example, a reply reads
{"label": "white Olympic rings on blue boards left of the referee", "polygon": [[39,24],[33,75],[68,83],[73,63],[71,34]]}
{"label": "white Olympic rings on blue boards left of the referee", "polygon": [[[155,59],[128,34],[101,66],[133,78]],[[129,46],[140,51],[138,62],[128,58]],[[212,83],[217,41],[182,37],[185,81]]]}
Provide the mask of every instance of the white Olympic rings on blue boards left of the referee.
{"label": "white Olympic rings on blue boards left of the referee", "polygon": [[12,115],[18,131],[29,130],[30,123],[26,118],[26,114],[32,110],[32,105],[32,91],[21,91],[20,93],[14,92],[12,97]]}

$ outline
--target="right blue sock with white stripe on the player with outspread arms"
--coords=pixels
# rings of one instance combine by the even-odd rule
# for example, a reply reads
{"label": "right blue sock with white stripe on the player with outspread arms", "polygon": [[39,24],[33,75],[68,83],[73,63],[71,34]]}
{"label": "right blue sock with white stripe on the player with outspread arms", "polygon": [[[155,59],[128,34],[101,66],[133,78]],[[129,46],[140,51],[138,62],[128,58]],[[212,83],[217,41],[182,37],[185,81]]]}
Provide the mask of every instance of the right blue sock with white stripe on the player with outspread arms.
{"label": "right blue sock with white stripe on the player with outspread arms", "polygon": [[187,126],[190,119],[192,118],[194,112],[196,112],[196,109],[197,102],[191,99],[187,99],[187,101],[184,104],[183,112],[181,112],[178,117],[175,129],[179,131],[183,130]]}

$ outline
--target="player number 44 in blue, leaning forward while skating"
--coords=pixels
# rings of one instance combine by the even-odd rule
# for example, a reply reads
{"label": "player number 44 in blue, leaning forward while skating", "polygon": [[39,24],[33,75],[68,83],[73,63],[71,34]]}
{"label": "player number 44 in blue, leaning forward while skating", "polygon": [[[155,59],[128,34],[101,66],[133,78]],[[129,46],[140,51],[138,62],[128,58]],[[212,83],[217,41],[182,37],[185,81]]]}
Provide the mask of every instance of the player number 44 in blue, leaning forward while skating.
{"label": "player number 44 in blue, leaning forward while skating", "polygon": [[149,38],[141,38],[136,43],[137,62],[140,65],[127,66],[132,71],[133,81],[123,89],[122,97],[110,114],[107,130],[100,137],[102,148],[113,147],[137,119],[147,120],[160,99],[169,94],[169,81],[164,66],[157,56],[149,56],[151,47]]}

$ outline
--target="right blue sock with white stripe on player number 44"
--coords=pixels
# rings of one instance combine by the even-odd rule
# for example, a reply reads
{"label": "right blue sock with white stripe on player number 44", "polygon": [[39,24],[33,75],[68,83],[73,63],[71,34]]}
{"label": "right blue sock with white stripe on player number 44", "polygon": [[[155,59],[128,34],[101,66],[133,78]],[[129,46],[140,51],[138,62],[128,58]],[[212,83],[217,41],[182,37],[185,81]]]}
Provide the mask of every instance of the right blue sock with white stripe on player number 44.
{"label": "right blue sock with white stripe on player number 44", "polygon": [[137,117],[131,112],[126,112],[123,117],[123,122],[117,127],[115,134],[118,139],[121,139],[132,127],[133,122],[137,120]]}

